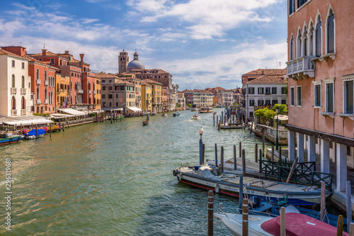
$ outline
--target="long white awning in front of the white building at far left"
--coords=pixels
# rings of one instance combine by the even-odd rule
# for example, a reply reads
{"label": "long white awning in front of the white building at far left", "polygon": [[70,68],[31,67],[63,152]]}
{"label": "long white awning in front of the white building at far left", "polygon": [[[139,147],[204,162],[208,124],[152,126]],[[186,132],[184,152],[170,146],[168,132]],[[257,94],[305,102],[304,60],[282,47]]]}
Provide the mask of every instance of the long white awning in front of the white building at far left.
{"label": "long white awning in front of the white building at far left", "polygon": [[8,116],[1,117],[0,123],[2,125],[45,125],[48,123],[53,123],[52,120],[47,120],[42,116]]}

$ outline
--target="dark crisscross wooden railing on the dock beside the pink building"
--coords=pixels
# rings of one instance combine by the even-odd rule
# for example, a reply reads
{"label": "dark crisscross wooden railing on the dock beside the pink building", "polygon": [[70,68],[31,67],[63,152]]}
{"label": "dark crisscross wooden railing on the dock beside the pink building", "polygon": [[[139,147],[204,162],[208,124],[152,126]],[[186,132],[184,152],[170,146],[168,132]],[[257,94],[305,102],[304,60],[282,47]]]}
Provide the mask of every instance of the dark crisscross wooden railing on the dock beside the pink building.
{"label": "dark crisscross wooden railing on the dock beside the pink building", "polygon": [[[278,181],[286,181],[291,172],[289,165],[281,165],[278,162],[260,159],[259,164],[261,172],[264,172],[265,179],[278,179]],[[298,163],[291,181],[295,184],[307,184],[312,186],[321,186],[321,181],[326,183],[326,189],[332,191],[333,174],[316,172],[315,162]]]}

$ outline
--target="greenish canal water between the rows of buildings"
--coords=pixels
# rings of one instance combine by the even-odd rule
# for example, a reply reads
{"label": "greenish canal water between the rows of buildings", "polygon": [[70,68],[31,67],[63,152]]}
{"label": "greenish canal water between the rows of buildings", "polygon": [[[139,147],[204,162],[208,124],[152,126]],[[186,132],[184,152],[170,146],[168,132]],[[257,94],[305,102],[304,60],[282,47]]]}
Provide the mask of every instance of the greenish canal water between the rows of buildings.
{"label": "greenish canal water between the rows of buildings", "polygon": [[[194,113],[151,116],[147,126],[142,117],[78,125],[0,147],[1,199],[5,157],[13,179],[11,232],[1,200],[0,235],[207,235],[207,191],[178,183],[173,169],[198,164],[200,127],[207,159],[215,158],[215,143],[231,158],[242,142],[253,160],[261,139],[249,130],[217,130],[211,113],[191,120]],[[238,206],[237,198],[215,194],[215,210],[220,202]],[[214,221],[214,235],[231,235]]]}

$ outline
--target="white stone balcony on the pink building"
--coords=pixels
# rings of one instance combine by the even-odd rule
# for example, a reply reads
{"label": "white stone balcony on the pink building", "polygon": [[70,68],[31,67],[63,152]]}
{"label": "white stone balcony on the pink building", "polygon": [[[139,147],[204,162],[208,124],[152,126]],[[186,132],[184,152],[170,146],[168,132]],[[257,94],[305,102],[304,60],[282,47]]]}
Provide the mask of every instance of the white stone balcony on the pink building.
{"label": "white stone balcony on the pink building", "polygon": [[304,56],[287,63],[287,76],[292,79],[307,79],[314,77],[314,62],[311,60],[315,56]]}

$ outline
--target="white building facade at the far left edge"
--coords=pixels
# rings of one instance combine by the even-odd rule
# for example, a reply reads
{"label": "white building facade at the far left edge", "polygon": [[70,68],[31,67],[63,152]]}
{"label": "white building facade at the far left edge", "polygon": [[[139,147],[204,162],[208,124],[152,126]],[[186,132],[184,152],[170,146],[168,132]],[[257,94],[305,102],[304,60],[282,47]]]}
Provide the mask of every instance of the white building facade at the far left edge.
{"label": "white building facade at the far left edge", "polygon": [[28,60],[0,50],[0,116],[32,114]]}

